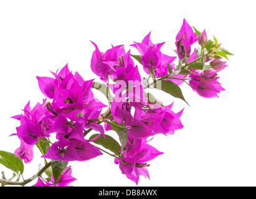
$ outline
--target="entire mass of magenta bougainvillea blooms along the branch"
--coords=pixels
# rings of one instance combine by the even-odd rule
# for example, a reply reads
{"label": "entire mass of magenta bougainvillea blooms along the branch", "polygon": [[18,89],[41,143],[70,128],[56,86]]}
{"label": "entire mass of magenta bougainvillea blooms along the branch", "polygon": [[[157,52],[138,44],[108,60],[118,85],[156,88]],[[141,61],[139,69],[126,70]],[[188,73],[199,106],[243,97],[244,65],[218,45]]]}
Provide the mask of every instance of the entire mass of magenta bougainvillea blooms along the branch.
{"label": "entire mass of magenta bougainvillea blooms along the branch", "polygon": [[[178,88],[189,80],[186,83],[198,95],[212,98],[224,90],[218,81],[217,72],[227,66],[218,56],[217,44],[212,42],[210,47],[206,47],[206,31],[200,34],[194,32],[185,19],[175,42],[179,65],[173,63],[176,57],[161,52],[164,42],[153,44],[150,34],[141,43],[131,44],[140,53],[136,55],[136,60],[149,74],[146,81],[141,78],[140,66],[135,65],[135,55],[131,55],[130,50],[126,52],[123,45],[112,45],[103,53],[92,42],[95,50],[90,68],[103,83],[107,83],[104,91],[108,104],[103,104],[93,95],[97,91],[94,79],[83,80],[78,72],[70,72],[67,65],[60,71],[52,72],[53,77],[37,76],[40,91],[46,99],[32,109],[27,103],[22,114],[12,117],[21,123],[16,128],[21,146],[15,154],[26,163],[31,162],[33,146],[42,138],[49,140],[54,136],[57,141],[49,142],[50,147],[42,157],[62,162],[86,161],[102,155],[100,148],[94,146],[93,142],[100,137],[107,139],[107,131],[116,131],[121,145],[120,150],[112,156],[121,173],[136,184],[140,175],[149,178],[148,162],[163,154],[148,144],[149,139],[156,134],[174,134],[174,131],[183,128],[180,120],[183,110],[174,113],[173,103],[164,106],[157,99],[157,102],[149,100],[145,90],[150,86],[150,78],[153,79],[153,88],[156,80],[171,81],[171,85]],[[194,49],[191,53],[191,46],[197,40],[201,51]],[[114,96],[110,97],[111,93]],[[85,136],[92,130],[98,132],[97,136],[86,139]],[[111,150],[111,147],[107,149]],[[67,178],[68,182],[74,179],[70,171],[69,167],[62,177]],[[39,178],[36,186],[52,186],[53,183]]]}

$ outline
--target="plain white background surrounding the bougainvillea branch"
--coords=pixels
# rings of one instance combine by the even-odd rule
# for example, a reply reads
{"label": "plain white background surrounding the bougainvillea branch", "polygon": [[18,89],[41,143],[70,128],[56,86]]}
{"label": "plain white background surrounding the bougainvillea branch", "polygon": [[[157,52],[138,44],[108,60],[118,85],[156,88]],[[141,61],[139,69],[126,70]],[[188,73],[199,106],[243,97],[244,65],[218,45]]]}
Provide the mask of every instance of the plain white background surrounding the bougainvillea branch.
{"label": "plain white background surrounding the bougainvillea branch", "polygon": [[[165,104],[174,101],[175,112],[185,107],[184,128],[149,142],[164,154],[149,162],[151,179],[141,177],[138,186],[255,186],[253,2],[0,1],[0,150],[14,152],[19,146],[16,136],[8,137],[19,126],[10,117],[21,114],[29,100],[32,107],[42,103],[36,76],[51,76],[49,70],[69,63],[70,70],[85,80],[97,78],[90,70],[94,50],[90,40],[102,52],[111,44],[124,44],[126,51],[138,54],[129,45],[141,42],[149,31],[153,43],[166,42],[163,53],[175,56],[175,36],[185,18],[198,30],[206,29],[209,39],[214,35],[235,56],[229,56],[229,67],[219,73],[225,88],[219,98],[201,98],[182,85],[189,107],[158,94]],[[36,174],[44,163],[36,147],[34,153],[34,160],[25,165],[24,178]],[[77,178],[73,186],[135,186],[107,154],[70,165]],[[2,165],[0,171],[12,175]]]}

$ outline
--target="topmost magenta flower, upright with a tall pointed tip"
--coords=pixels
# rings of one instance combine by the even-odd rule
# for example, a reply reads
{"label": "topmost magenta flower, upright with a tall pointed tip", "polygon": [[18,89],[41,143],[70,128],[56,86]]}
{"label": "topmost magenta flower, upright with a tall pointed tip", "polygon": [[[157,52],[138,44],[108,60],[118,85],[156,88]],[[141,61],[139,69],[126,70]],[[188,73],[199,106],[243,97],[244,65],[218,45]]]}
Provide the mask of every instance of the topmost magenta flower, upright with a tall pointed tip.
{"label": "topmost magenta flower, upright with a tall pointed tip", "polygon": [[193,32],[192,27],[187,24],[186,20],[183,19],[183,25],[176,35],[176,47],[177,53],[180,60],[183,60],[185,56],[189,56],[191,53],[191,45],[197,41],[196,32]]}

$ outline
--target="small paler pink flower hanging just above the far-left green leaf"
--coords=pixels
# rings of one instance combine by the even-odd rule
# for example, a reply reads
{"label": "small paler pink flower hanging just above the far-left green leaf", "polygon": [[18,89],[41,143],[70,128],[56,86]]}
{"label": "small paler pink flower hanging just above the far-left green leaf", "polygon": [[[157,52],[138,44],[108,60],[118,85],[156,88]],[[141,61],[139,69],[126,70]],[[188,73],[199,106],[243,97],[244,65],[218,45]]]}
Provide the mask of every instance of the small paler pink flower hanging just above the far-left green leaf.
{"label": "small paler pink flower hanging just above the far-left green leaf", "polygon": [[21,146],[15,150],[14,154],[24,160],[25,163],[29,163],[34,157],[33,146],[21,141]]}

